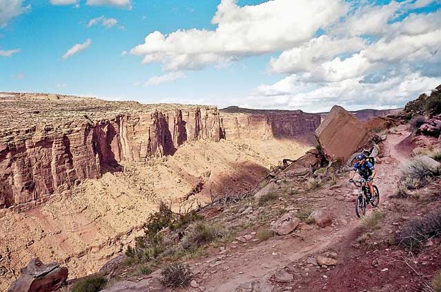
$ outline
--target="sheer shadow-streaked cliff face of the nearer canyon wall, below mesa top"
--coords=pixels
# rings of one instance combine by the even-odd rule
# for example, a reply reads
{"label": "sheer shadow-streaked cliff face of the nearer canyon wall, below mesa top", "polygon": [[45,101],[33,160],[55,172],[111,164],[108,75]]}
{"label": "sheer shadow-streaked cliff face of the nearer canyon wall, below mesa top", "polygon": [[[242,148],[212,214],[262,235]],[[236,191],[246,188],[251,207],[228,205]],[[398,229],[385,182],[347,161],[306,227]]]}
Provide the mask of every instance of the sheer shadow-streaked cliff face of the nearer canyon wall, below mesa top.
{"label": "sheer shadow-streaked cliff face of the nearer canyon wall, below mesa top", "polygon": [[0,208],[99,178],[121,161],[143,163],[174,154],[186,140],[221,138],[213,107],[121,114],[95,123],[78,121],[68,128],[33,130],[0,140]]}

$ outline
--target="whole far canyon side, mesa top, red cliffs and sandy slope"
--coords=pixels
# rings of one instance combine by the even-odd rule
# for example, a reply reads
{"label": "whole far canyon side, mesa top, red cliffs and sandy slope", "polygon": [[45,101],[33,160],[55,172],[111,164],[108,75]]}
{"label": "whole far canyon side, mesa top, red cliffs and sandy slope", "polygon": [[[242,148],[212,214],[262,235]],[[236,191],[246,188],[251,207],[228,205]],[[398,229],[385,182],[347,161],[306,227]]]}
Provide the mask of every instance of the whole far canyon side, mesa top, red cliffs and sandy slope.
{"label": "whole far canyon side, mesa top, red cliffs and sandy slope", "polygon": [[321,121],[301,111],[0,96],[0,289],[34,257],[66,264],[70,278],[97,271],[160,201],[179,211],[252,191],[315,145]]}

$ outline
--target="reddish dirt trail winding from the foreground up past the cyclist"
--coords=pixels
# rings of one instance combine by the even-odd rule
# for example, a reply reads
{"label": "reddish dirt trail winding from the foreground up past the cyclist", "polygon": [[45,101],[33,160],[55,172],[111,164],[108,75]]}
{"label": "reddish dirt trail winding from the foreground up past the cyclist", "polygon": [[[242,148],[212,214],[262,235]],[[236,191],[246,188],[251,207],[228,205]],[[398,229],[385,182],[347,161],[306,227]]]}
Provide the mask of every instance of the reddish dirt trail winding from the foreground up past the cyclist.
{"label": "reddish dirt trail winding from the foreground up past the cyclist", "polygon": [[[410,133],[405,127],[400,127],[398,130],[397,134],[388,134],[384,141],[385,153],[389,154],[391,159],[376,165],[378,178],[375,184],[380,189],[381,205],[384,205],[393,194],[399,176],[399,165],[406,159],[406,154],[402,153],[397,145]],[[324,229],[314,227],[308,231],[297,231],[293,236],[276,237],[261,243],[233,242],[225,247],[227,253],[215,255],[206,262],[194,263],[197,267],[195,270],[200,280],[199,284],[205,287],[205,291],[210,292],[304,291],[300,287],[298,290],[297,287],[284,290],[268,279],[275,271],[288,265],[295,265],[307,255],[332,249],[335,244],[349,238],[360,225],[360,221],[355,217],[353,202],[334,199],[340,192],[351,192],[353,187],[348,186],[345,177],[340,178],[337,185],[341,186],[341,191],[317,191],[318,196],[316,196],[322,207],[327,207],[334,214],[335,224],[332,227]],[[313,291],[313,287],[308,289]]]}

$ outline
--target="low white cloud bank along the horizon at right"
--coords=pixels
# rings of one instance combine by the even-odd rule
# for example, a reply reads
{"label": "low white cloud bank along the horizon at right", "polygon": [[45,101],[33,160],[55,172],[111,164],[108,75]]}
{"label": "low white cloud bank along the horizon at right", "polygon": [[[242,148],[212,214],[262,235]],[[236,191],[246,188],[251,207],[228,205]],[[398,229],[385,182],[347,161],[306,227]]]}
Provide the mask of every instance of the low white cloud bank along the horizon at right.
{"label": "low white cloud bank along the horizon at right", "polygon": [[360,79],[317,85],[305,83],[295,75],[273,85],[262,85],[246,98],[242,106],[257,108],[283,107],[307,112],[326,112],[335,104],[348,110],[362,108],[396,108],[430,92],[441,83],[441,77],[414,73],[399,75],[378,83],[360,83]]}

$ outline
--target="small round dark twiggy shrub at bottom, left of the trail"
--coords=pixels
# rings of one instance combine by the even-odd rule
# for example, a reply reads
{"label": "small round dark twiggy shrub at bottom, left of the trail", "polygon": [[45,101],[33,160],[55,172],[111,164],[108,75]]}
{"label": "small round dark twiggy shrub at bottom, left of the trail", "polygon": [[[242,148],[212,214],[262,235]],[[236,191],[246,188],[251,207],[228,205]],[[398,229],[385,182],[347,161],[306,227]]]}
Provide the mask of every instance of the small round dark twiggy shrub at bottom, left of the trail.
{"label": "small round dark twiggy shrub at bottom, left of the trail", "polygon": [[169,288],[182,288],[188,286],[193,272],[185,264],[168,264],[161,272],[161,283]]}

